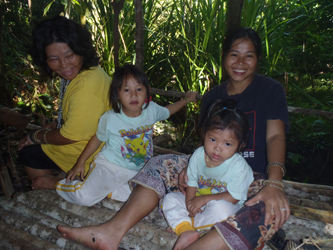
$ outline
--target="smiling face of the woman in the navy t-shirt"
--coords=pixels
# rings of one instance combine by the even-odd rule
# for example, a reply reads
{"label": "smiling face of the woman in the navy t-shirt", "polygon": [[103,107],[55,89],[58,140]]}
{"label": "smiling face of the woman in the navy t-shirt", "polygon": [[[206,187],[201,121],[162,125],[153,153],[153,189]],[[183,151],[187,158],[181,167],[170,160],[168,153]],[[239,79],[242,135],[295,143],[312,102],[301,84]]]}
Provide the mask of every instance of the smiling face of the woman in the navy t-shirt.
{"label": "smiling face of the woman in the navy t-shirt", "polygon": [[248,86],[258,65],[256,49],[248,38],[239,38],[232,44],[224,60],[231,84]]}

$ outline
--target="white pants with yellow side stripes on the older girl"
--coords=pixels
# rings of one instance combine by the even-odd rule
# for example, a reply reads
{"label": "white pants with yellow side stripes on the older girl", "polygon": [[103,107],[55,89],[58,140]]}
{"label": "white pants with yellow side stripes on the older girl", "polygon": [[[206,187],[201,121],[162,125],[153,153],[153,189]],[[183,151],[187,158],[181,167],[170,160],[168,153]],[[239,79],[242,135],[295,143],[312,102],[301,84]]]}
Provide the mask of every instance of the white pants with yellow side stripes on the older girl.
{"label": "white pants with yellow side stripes on the older girl", "polygon": [[110,193],[112,199],[126,201],[131,194],[128,181],[137,173],[110,162],[99,153],[83,181],[66,183],[63,179],[57,183],[56,192],[65,200],[82,206],[92,206]]}

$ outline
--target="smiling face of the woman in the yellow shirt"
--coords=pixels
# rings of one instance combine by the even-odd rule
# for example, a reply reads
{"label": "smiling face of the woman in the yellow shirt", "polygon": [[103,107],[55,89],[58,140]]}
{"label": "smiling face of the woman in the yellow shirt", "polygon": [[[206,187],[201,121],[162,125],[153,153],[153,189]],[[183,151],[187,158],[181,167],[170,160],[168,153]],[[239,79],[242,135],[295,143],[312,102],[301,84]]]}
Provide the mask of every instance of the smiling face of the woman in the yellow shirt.
{"label": "smiling face of the woman in the yellow shirt", "polygon": [[66,43],[52,43],[45,48],[49,68],[65,80],[73,80],[82,68],[83,58]]}

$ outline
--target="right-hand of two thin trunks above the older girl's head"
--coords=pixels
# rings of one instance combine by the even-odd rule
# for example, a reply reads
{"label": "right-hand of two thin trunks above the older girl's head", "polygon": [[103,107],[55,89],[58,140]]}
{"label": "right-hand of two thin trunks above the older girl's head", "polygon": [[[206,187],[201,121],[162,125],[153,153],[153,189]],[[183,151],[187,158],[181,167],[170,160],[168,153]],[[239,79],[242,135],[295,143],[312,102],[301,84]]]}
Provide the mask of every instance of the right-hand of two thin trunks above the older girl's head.
{"label": "right-hand of two thin trunks above the older girl's head", "polygon": [[144,40],[143,40],[143,32],[144,32],[144,22],[143,22],[143,7],[142,0],[134,0],[135,6],[135,23],[136,23],[136,34],[135,34],[135,65],[139,68],[143,69],[144,56]]}

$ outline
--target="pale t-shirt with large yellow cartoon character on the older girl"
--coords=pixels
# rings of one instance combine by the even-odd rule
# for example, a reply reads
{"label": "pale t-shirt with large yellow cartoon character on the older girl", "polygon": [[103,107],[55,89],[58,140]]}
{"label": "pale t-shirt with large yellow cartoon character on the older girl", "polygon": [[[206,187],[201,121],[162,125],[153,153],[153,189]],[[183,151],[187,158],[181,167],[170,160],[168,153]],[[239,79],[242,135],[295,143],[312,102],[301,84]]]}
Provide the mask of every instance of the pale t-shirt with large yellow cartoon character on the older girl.
{"label": "pale t-shirt with large yellow cartoon character on the older girl", "polygon": [[111,162],[127,169],[140,170],[153,156],[153,129],[157,121],[168,119],[170,112],[154,102],[138,117],[122,110],[105,112],[99,120],[96,136],[106,144],[101,152]]}

